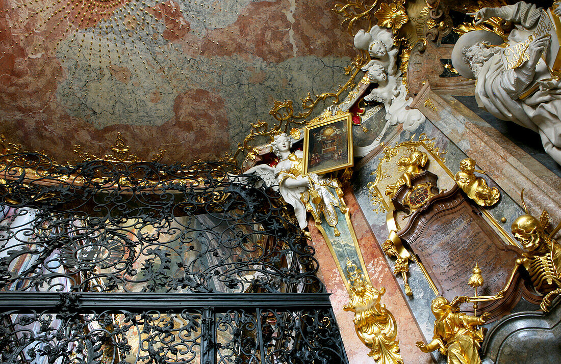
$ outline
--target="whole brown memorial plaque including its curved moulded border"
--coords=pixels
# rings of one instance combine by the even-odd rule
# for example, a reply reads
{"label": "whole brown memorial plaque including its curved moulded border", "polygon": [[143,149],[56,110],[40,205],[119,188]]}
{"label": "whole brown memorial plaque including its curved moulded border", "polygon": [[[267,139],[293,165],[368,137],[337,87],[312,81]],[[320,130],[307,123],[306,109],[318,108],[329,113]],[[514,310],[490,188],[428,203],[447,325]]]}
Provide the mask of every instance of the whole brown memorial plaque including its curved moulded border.
{"label": "whole brown memorial plaque including its curved moulded border", "polygon": [[[467,285],[475,263],[479,263],[485,283],[479,295],[494,295],[507,282],[521,250],[507,245],[457,186],[431,198],[413,213],[398,232],[425,266],[440,295],[473,296]],[[478,311],[498,316],[519,300],[518,290],[494,302],[481,302]],[[499,307],[500,306],[500,307]]]}

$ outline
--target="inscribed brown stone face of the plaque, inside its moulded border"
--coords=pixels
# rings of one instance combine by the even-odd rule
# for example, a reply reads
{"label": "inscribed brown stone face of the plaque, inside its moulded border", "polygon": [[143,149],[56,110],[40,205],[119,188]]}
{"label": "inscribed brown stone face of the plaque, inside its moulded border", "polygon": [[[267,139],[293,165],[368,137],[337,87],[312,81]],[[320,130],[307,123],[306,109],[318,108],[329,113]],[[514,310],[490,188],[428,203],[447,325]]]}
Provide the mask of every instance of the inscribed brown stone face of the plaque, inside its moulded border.
{"label": "inscribed brown stone face of the plaque, inside its moulded border", "polygon": [[411,248],[419,256],[444,297],[472,296],[467,285],[475,263],[479,263],[485,283],[478,295],[494,294],[508,279],[516,253],[504,250],[504,243],[485,221],[462,204],[456,213],[427,222],[429,228]]}

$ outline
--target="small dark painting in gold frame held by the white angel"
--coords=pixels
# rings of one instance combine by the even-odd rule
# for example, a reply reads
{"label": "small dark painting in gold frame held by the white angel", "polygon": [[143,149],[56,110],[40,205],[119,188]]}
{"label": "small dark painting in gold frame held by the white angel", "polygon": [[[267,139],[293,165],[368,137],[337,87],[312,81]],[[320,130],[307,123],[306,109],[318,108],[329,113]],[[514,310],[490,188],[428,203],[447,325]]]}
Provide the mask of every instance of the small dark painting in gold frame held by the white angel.
{"label": "small dark painting in gold frame held by the white angel", "polygon": [[304,128],[304,175],[352,167],[352,116],[333,116]]}

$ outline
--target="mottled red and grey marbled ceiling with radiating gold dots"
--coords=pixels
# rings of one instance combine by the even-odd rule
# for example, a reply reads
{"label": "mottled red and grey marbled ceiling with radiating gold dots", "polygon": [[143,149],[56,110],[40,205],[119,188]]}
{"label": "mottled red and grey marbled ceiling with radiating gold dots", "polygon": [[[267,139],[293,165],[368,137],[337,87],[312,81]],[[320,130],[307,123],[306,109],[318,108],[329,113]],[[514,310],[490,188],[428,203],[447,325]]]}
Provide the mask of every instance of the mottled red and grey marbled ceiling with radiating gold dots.
{"label": "mottled red and grey marbled ceiling with radiating gold dots", "polygon": [[144,159],[232,151],[274,100],[332,90],[355,54],[324,0],[0,0],[0,133],[58,161],[117,133]]}

